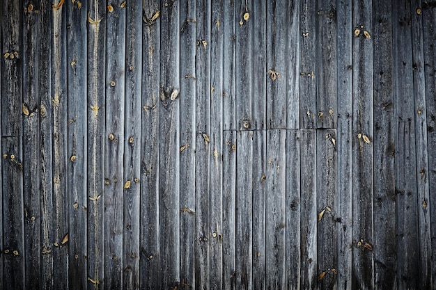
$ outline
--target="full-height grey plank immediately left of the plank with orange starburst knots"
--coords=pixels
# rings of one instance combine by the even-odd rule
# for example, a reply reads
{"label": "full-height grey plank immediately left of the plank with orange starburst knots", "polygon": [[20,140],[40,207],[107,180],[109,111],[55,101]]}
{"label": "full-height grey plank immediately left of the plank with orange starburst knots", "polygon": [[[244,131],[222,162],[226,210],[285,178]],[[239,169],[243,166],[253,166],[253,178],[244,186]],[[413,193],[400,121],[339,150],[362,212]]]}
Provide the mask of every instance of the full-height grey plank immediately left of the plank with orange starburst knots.
{"label": "full-height grey plank immediately left of the plank with orange starburst knots", "polygon": [[[88,283],[86,268],[87,220],[86,204],[86,19],[87,3],[65,3],[67,8],[67,108],[68,108],[68,287],[85,289]],[[84,208],[85,207],[85,208]]]}

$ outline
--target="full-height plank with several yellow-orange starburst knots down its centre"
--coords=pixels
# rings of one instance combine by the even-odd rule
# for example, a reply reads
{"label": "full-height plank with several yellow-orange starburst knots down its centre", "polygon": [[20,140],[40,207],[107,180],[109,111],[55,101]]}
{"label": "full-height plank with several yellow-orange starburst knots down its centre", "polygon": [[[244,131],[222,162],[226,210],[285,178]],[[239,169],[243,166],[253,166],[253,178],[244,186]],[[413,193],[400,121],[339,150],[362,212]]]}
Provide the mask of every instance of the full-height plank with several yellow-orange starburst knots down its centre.
{"label": "full-height plank with several yellow-orange starburst knots down its centre", "polygon": [[104,289],[104,116],[107,7],[88,2],[88,288]]}

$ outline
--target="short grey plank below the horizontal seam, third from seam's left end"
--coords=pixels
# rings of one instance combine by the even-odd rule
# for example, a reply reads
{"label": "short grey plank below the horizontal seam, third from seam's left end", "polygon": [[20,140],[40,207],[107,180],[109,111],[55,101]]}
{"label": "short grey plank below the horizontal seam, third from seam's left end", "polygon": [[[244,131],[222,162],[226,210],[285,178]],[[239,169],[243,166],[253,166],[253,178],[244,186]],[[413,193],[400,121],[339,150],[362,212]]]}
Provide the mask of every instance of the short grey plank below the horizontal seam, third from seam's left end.
{"label": "short grey plank below the horizontal seam, third from seam's left end", "polygon": [[265,188],[266,188],[266,150],[267,140],[265,130],[253,131],[253,289],[265,289],[265,270],[267,250],[265,248]]}

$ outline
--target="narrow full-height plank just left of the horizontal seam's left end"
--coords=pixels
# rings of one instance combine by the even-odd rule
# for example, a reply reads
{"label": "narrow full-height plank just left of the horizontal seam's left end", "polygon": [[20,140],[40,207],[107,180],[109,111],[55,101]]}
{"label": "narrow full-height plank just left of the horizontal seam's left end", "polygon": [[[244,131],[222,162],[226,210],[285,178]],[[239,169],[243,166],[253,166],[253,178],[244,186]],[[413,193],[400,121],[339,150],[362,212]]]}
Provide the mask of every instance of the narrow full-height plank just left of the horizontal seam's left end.
{"label": "narrow full-height plank just left of the horizontal seam's left end", "polygon": [[210,289],[222,289],[223,1],[210,3]]}

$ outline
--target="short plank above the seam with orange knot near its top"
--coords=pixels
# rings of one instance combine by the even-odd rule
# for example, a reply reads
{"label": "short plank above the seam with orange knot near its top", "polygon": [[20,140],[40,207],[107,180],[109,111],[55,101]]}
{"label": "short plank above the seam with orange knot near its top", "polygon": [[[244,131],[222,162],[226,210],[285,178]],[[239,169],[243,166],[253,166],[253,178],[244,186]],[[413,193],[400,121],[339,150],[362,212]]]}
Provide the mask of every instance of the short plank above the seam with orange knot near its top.
{"label": "short plank above the seam with orange knot near its top", "polygon": [[[235,106],[236,129],[251,129],[253,120],[253,19],[247,19],[251,7],[247,1],[235,4]],[[245,18],[244,18],[245,15]]]}

